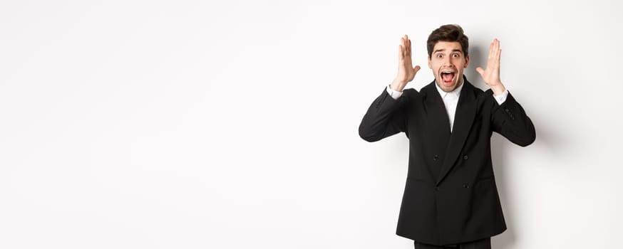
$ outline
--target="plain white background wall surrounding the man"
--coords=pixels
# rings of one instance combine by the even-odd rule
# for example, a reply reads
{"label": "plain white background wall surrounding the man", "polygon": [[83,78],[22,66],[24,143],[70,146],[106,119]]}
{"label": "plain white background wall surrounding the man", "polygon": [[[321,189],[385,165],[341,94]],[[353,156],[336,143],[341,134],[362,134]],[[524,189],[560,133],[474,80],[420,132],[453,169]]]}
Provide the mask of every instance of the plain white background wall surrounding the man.
{"label": "plain white background wall surrounding the man", "polygon": [[[623,248],[620,1],[2,1],[0,248],[413,248],[408,140],[359,138],[399,38],[501,41],[494,248]],[[619,15],[619,16],[617,16]],[[478,76],[478,77],[477,77]]]}

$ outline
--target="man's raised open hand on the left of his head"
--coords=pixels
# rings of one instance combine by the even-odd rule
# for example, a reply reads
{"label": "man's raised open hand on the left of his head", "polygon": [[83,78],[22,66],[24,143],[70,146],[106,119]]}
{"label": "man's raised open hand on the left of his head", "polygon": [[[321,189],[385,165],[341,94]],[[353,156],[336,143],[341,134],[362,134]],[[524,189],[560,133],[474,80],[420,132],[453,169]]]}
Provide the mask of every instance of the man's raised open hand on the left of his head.
{"label": "man's raised open hand on the left of his head", "polygon": [[420,70],[420,66],[416,65],[414,68],[411,62],[411,40],[408,36],[400,38],[401,44],[398,46],[398,75],[391,83],[390,88],[398,92],[402,92],[407,83],[411,82],[416,73]]}

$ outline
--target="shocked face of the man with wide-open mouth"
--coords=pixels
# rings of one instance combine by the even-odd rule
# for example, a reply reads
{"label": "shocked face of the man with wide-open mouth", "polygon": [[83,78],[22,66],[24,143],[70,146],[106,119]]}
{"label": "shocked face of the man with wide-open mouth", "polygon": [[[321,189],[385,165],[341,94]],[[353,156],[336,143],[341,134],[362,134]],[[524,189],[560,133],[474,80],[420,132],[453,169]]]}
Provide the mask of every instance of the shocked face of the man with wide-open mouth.
{"label": "shocked face of the man with wide-open mouth", "polygon": [[438,41],[428,58],[428,68],[433,70],[439,88],[452,92],[463,84],[463,69],[469,62],[458,41]]}

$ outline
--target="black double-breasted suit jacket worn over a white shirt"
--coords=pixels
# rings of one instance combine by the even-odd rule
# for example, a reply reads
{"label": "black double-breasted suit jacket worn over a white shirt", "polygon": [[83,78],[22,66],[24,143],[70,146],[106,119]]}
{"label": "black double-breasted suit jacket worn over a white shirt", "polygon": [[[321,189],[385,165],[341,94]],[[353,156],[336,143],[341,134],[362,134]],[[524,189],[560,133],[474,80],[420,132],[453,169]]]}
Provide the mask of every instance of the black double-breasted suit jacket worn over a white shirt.
{"label": "black double-breasted suit jacket worn over a white shirt", "polygon": [[490,137],[498,132],[525,147],[535,127],[513,95],[502,105],[464,78],[454,128],[435,82],[420,92],[383,92],[359,125],[376,142],[398,132],[409,139],[408,175],[396,234],[421,243],[449,245],[497,235],[506,223],[495,185]]}

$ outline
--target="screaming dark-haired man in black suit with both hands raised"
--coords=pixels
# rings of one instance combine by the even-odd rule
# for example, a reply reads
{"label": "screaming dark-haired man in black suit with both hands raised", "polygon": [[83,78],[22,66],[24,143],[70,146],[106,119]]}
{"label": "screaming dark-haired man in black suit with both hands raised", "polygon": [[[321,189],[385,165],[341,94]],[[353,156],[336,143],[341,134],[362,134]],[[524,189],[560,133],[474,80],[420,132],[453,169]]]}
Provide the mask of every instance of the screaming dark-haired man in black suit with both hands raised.
{"label": "screaming dark-haired man in black suit with both hands raised", "polygon": [[370,105],[359,136],[376,142],[405,132],[409,139],[397,235],[416,248],[490,248],[490,237],[506,230],[491,134],[525,147],[535,127],[500,81],[500,41],[490,44],[487,68],[476,68],[490,87],[484,92],[463,75],[470,59],[460,26],[437,28],[426,45],[435,80],[419,92],[404,89],[420,66],[412,67],[411,40],[401,38],[398,75]]}

